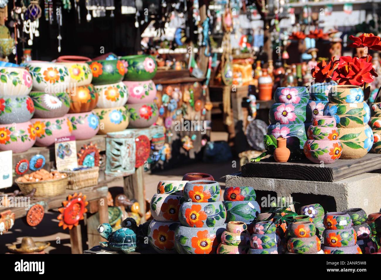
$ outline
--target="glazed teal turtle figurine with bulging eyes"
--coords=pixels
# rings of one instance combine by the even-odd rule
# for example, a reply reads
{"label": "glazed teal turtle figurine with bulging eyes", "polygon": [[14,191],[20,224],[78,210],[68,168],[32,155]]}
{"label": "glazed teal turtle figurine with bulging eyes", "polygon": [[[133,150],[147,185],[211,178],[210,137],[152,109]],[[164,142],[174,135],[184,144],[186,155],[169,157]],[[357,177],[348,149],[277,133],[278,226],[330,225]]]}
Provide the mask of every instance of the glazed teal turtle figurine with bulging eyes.
{"label": "glazed teal turtle figurine with bulging eyes", "polygon": [[112,231],[110,224],[103,223],[98,226],[98,233],[106,238],[108,242],[99,242],[102,247],[109,247],[111,250],[123,252],[125,254],[134,252],[136,249],[136,222],[133,218],[127,218],[122,222],[122,228]]}

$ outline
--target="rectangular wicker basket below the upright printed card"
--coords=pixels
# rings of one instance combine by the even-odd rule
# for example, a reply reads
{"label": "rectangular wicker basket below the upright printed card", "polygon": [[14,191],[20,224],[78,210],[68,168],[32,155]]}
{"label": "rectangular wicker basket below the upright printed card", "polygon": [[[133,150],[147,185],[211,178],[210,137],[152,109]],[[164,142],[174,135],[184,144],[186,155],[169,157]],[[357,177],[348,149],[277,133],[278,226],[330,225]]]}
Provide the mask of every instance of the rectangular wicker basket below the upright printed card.
{"label": "rectangular wicker basket below the upright printed card", "polygon": [[99,166],[77,171],[64,170],[63,172],[65,172],[68,177],[67,189],[78,190],[98,184]]}

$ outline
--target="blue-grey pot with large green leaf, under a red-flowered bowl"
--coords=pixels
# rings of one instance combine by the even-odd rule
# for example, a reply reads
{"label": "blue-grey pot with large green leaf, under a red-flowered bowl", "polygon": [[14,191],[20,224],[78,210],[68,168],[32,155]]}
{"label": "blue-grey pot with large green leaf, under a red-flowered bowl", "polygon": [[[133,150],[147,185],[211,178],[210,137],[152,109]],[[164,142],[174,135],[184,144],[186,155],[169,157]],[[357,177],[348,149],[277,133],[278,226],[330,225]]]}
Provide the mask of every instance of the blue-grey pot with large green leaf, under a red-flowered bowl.
{"label": "blue-grey pot with large green leaf, under a red-flowered bowl", "polygon": [[250,224],[261,212],[256,201],[223,201],[226,208],[226,221],[240,221]]}

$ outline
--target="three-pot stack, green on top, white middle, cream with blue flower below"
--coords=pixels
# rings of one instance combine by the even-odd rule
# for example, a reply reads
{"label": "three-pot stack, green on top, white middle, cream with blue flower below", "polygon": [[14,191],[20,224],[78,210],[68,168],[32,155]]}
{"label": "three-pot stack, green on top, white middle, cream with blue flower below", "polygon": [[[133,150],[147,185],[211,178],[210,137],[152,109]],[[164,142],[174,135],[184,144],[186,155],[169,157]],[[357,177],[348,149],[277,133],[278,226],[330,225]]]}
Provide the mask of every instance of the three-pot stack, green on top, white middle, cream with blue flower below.
{"label": "three-pot stack, green on top, white middle, cream with blue flower below", "polygon": [[118,59],[86,62],[93,73],[94,92],[97,95],[95,114],[101,123],[98,134],[125,130],[129,116],[124,105],[128,89],[122,82],[125,65]]}

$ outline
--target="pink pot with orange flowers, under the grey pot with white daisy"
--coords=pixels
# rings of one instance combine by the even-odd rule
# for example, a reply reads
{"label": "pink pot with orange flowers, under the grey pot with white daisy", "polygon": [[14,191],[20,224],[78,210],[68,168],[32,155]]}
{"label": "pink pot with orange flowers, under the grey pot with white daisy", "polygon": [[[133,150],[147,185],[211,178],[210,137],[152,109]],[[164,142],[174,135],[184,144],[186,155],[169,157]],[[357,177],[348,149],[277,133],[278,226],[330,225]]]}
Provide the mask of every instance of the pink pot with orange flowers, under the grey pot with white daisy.
{"label": "pink pot with orange flowers, under the grey pot with white daisy", "polygon": [[54,144],[56,138],[71,136],[73,126],[70,120],[64,116],[59,118],[32,118],[34,126],[36,146],[47,147]]}

